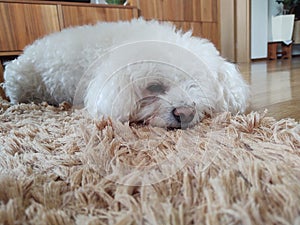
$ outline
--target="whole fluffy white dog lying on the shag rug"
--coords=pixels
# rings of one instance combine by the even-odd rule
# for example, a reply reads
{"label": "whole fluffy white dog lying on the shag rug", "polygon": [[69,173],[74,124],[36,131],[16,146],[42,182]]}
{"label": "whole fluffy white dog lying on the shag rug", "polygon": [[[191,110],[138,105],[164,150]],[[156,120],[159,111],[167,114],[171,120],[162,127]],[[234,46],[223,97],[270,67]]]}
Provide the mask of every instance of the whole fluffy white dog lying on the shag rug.
{"label": "whole fluffy white dog lying on the shag rug", "polygon": [[95,117],[171,128],[242,113],[249,97],[235,65],[208,40],[143,19],[48,35],[6,65],[4,80],[13,104],[83,103]]}

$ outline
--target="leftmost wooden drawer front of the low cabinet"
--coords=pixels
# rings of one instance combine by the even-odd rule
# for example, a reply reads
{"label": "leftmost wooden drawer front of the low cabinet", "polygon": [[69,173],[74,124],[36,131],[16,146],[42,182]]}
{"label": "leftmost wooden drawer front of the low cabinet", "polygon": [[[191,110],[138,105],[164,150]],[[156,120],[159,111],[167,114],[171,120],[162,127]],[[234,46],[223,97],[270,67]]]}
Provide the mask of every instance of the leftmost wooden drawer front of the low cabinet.
{"label": "leftmost wooden drawer front of the low cabinet", "polygon": [[0,51],[20,51],[35,39],[59,31],[55,5],[0,3]]}

